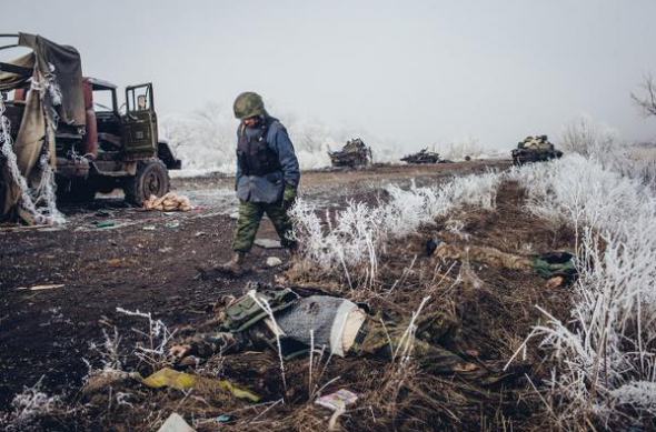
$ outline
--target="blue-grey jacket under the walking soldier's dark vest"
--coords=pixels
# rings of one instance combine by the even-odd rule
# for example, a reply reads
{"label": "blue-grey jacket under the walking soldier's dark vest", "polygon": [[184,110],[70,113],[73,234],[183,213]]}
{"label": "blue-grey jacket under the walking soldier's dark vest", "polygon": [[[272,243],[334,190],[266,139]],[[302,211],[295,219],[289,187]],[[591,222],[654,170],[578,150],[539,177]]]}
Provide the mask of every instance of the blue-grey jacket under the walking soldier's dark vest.
{"label": "blue-grey jacket under the walking soldier's dark vest", "polygon": [[[239,130],[237,130],[237,138],[239,139]],[[246,175],[242,173],[239,152],[237,152],[236,187],[237,198],[241,201],[268,204],[280,202],[285,183],[297,187],[300,180],[300,170],[298,159],[294,152],[294,144],[282,123],[275,120],[265,135],[265,141],[278,155],[280,171],[266,175]]]}

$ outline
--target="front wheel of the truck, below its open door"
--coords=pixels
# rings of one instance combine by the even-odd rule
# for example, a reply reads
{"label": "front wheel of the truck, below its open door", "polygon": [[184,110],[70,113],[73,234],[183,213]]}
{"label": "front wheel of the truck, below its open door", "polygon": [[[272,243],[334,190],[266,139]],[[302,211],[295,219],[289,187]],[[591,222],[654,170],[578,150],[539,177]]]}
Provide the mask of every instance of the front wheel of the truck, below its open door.
{"label": "front wheel of the truck, below its open door", "polygon": [[169,191],[169,171],[159,159],[148,159],[137,163],[137,173],[123,187],[126,201],[143,205],[150,195],[162,197]]}

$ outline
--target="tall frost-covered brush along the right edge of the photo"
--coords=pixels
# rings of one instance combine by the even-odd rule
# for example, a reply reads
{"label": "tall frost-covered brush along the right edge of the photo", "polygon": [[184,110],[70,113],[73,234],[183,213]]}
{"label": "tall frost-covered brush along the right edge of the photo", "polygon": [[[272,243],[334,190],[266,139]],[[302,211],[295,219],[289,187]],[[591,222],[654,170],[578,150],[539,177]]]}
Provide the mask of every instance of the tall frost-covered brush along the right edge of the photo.
{"label": "tall frost-covered brush along the right edge of the photo", "polygon": [[[557,412],[563,424],[594,414],[628,426],[656,414],[653,191],[580,155],[509,177],[527,190],[528,211],[574,225],[579,239],[571,320],[564,323],[545,311],[547,323],[533,333],[558,365],[550,389],[569,401]],[[627,415],[630,409],[634,415]]]}

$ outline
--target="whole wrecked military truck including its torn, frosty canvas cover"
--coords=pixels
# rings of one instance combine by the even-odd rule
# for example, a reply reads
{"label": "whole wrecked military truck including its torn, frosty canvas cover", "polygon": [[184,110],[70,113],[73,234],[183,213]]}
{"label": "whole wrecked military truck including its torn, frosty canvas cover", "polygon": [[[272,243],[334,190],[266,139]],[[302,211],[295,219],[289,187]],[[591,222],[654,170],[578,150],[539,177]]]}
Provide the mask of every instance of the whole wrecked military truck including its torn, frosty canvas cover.
{"label": "whole wrecked military truck including its torn, frosty canvas cover", "polygon": [[54,189],[44,182],[70,201],[119,188],[126,201],[141,205],[168,192],[168,170],[181,161],[158,137],[151,83],[127,87],[119,108],[117,86],[83,77],[74,48],[27,33],[1,34],[0,41],[10,42],[0,50],[31,50],[0,62],[0,219],[39,223],[26,201]]}

